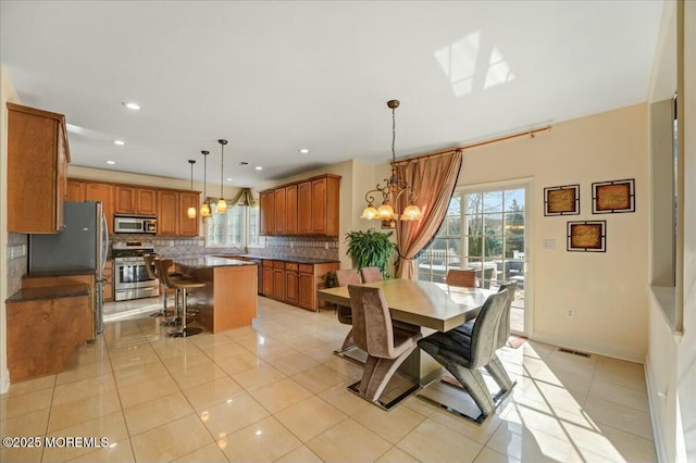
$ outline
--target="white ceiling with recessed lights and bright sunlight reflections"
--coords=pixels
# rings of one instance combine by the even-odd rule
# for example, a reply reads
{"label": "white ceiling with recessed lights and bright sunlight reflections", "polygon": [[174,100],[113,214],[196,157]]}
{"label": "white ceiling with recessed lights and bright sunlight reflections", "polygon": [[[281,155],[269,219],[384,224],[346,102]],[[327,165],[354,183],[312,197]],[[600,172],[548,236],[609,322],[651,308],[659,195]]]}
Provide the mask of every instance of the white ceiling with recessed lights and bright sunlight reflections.
{"label": "white ceiling with recessed lights and bright sunlight reflections", "polygon": [[202,180],[209,150],[215,184],[226,138],[226,185],[256,186],[387,161],[389,99],[397,158],[646,101],[662,5],[3,0],[0,58],[73,165]]}

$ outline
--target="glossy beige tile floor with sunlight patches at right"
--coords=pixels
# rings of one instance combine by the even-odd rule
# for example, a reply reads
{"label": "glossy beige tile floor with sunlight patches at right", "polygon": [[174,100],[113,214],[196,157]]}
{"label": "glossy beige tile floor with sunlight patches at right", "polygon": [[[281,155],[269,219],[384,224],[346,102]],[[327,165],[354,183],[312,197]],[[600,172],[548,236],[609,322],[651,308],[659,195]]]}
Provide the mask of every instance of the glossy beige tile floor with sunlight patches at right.
{"label": "glossy beige tile floor with sunlight patches at right", "polygon": [[127,304],[65,372],[0,396],[0,435],[41,443],[3,447],[0,461],[656,461],[638,364],[506,348],[518,384],[476,426],[414,397],[384,412],[348,392],[361,368],[332,354],[347,327],[331,310],[259,298],[253,327],[170,339],[134,315],[159,301]]}

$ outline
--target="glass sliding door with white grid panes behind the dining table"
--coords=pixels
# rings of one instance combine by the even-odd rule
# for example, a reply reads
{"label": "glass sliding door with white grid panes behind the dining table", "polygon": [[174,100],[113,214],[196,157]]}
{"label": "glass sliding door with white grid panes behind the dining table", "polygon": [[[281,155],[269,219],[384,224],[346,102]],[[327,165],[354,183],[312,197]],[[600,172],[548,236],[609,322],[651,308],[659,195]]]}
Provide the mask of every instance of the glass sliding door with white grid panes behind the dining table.
{"label": "glass sliding door with white grid panes behind the dining table", "polygon": [[525,333],[526,186],[458,190],[433,242],[418,259],[418,277],[444,283],[449,268],[474,270],[476,286],[518,281],[511,329]]}

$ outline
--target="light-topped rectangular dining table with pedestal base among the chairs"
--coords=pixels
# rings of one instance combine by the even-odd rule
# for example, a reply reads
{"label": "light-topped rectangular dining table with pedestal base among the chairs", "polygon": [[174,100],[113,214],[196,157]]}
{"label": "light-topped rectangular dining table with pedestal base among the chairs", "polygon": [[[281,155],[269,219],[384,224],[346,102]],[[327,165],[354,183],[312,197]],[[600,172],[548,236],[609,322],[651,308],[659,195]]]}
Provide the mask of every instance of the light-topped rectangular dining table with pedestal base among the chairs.
{"label": "light-topped rectangular dining table with pedestal base among the chairs", "polygon": [[[382,289],[395,326],[421,331],[424,337],[434,331],[448,331],[475,318],[488,296],[495,292],[484,288],[408,278],[390,278],[362,286]],[[320,289],[318,297],[327,302],[350,306],[347,286]],[[399,373],[425,386],[439,377],[442,366],[428,354],[415,349],[403,362]]]}

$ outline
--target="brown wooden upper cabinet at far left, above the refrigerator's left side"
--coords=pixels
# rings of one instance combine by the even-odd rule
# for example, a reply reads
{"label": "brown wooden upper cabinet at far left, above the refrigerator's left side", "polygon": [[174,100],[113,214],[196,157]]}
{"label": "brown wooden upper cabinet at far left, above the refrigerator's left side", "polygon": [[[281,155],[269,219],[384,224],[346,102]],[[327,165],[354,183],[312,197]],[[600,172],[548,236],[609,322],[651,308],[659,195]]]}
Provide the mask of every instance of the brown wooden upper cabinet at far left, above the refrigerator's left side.
{"label": "brown wooden upper cabinet at far left, above the refrigerator's left side", "polygon": [[65,116],[8,103],[8,232],[63,229],[69,162]]}

